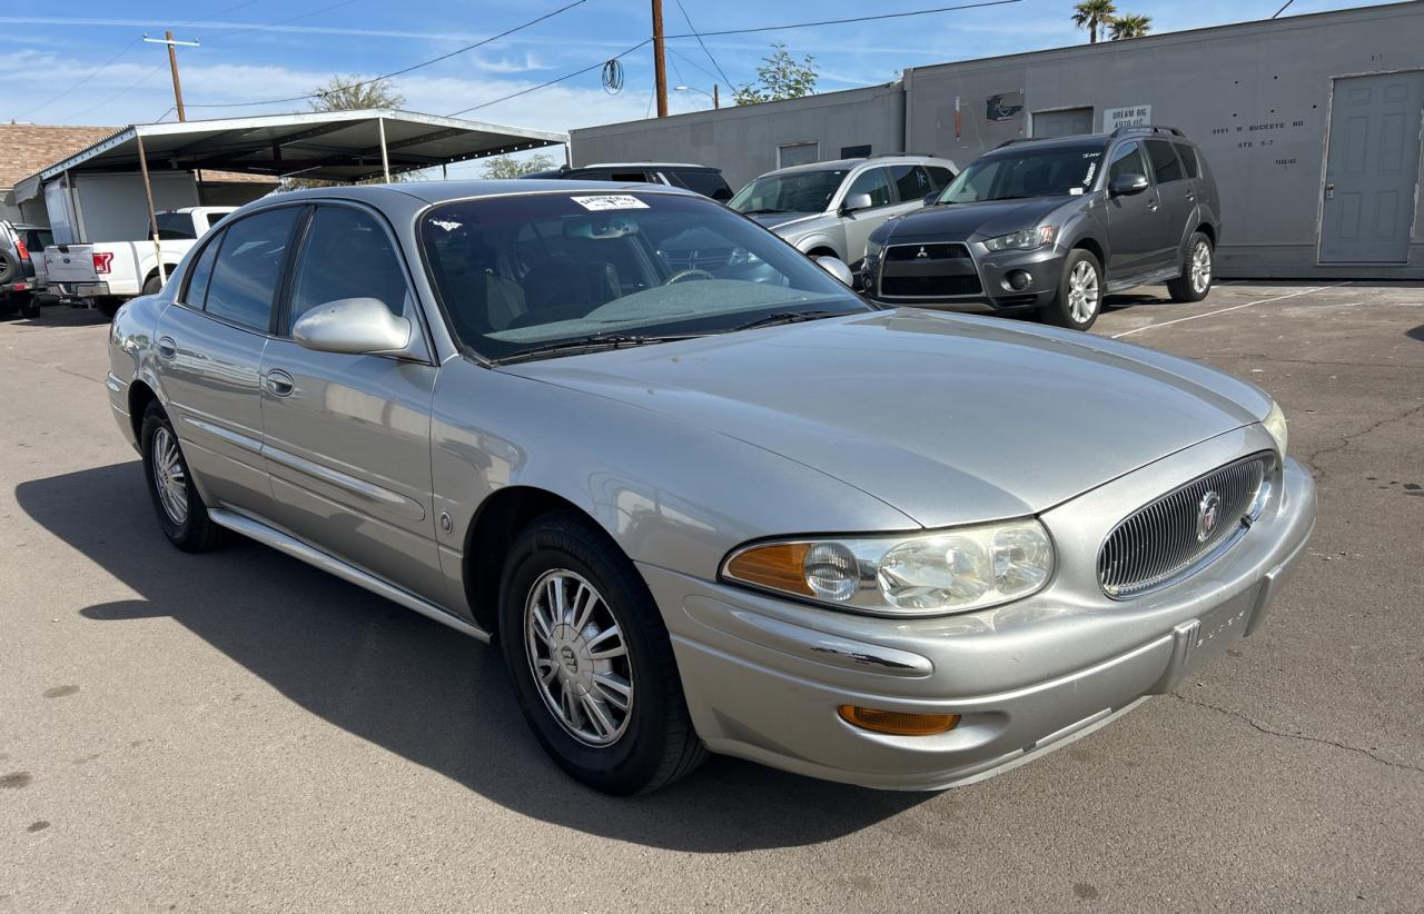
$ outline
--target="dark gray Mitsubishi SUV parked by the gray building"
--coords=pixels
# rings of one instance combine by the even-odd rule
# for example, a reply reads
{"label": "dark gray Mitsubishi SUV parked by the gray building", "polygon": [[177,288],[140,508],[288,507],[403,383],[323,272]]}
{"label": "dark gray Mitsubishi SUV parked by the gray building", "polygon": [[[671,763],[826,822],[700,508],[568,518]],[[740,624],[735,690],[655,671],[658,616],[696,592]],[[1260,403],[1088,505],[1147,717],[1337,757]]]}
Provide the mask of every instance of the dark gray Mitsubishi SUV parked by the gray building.
{"label": "dark gray Mitsubishi SUV parked by the gray building", "polygon": [[1034,308],[1087,330],[1105,293],[1161,282],[1199,302],[1212,288],[1216,181],[1172,127],[1012,141],[926,202],[866,245],[877,300]]}

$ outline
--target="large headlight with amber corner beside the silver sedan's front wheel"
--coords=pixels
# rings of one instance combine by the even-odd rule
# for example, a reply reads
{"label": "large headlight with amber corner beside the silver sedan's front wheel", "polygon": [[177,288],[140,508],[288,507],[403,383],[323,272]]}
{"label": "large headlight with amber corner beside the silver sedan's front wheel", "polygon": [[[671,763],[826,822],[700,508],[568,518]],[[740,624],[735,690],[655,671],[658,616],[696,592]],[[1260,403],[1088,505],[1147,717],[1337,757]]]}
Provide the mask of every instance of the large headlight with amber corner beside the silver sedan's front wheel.
{"label": "large headlight with amber corner beside the silver sedan's front wheel", "polygon": [[893,537],[758,542],[722,578],[829,606],[883,615],[983,609],[1037,592],[1054,544],[1034,518]]}

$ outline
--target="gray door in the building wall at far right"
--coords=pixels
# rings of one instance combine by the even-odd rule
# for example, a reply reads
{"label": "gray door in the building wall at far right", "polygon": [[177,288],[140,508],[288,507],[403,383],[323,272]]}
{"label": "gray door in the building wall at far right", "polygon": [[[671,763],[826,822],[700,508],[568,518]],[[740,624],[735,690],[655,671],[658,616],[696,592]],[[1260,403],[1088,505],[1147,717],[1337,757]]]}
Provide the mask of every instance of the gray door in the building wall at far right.
{"label": "gray door in the building wall at far right", "polygon": [[1321,263],[1404,263],[1420,171],[1424,73],[1334,81]]}

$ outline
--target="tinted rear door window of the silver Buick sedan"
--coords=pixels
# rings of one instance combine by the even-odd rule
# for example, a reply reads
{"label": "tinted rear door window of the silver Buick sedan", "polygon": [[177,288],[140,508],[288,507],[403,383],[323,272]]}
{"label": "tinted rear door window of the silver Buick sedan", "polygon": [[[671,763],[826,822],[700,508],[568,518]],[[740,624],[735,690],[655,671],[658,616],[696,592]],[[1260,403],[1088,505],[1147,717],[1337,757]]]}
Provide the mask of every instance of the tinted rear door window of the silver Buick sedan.
{"label": "tinted rear door window of the silver Buick sedan", "polygon": [[234,222],[222,233],[205,310],[253,330],[272,323],[272,300],[302,206],[268,209]]}

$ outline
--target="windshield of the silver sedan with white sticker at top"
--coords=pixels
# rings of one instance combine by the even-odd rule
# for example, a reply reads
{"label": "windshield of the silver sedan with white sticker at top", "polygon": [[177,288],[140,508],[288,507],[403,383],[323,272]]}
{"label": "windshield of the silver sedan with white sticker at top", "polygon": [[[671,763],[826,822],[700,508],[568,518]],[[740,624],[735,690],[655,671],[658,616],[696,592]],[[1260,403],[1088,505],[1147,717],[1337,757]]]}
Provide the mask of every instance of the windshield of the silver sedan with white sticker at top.
{"label": "windshield of the silver sedan with white sticker at top", "polygon": [[773,315],[870,310],[766,229],[682,194],[443,204],[422,218],[420,239],[456,336],[494,360],[597,337],[646,342]]}

